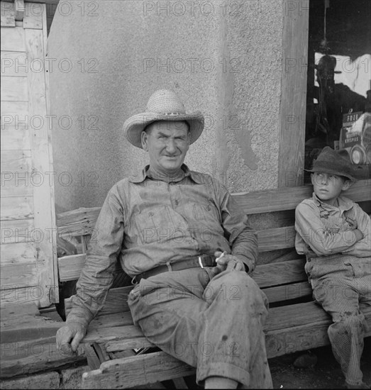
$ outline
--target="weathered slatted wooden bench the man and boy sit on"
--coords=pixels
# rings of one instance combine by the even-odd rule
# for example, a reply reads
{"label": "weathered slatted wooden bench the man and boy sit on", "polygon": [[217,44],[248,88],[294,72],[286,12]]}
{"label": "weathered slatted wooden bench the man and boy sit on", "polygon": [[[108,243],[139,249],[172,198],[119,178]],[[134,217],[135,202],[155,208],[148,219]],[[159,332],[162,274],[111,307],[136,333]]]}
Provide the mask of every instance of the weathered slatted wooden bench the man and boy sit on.
{"label": "weathered slatted wooden bench the man and boy sit on", "polygon": [[[311,298],[304,272],[304,257],[294,250],[294,209],[311,196],[311,186],[233,194],[258,230],[258,265],[251,275],[270,301],[265,324],[268,358],[328,345],[331,318]],[[347,192],[367,212],[371,211],[370,180],[361,180]],[[78,254],[58,259],[61,282],[78,279],[85,252],[100,208],[79,208],[57,216],[59,235],[78,240]],[[130,279],[123,279],[128,282]],[[128,283],[127,283],[128,284]],[[111,289],[102,311],[94,318],[84,338],[91,372],[83,374],[84,389],[151,384],[167,379],[187,388],[182,377],[195,369],[162,351],[135,355],[134,350],[153,347],[133,325],[126,299],[133,286]],[[66,313],[71,299],[65,300]],[[371,307],[363,311],[371,325]],[[367,336],[371,335],[370,331]]]}

